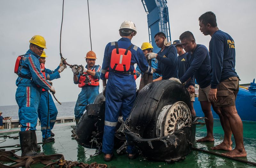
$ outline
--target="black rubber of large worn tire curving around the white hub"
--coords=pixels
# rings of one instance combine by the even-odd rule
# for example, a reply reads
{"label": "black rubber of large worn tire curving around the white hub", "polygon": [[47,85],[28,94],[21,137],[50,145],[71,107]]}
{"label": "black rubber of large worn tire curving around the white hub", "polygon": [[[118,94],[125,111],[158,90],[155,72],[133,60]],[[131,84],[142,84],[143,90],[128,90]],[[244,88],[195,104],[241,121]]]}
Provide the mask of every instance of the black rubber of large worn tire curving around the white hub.
{"label": "black rubber of large worn tire curving around the white hub", "polygon": [[178,82],[161,80],[147,84],[138,94],[126,125],[143,138],[156,138],[156,120],[161,109],[177,101],[185,102],[191,110],[190,96]]}

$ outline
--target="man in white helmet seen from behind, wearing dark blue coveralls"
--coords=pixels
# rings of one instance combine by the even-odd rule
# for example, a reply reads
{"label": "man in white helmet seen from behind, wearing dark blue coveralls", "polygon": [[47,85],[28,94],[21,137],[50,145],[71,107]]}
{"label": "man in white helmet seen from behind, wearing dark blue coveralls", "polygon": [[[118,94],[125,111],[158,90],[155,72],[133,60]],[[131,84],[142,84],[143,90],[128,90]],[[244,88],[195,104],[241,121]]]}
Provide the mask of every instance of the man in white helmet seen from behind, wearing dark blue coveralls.
{"label": "man in white helmet seen from behind, wearing dark blue coveralls", "polygon": [[[148,65],[142,50],[131,43],[132,37],[137,33],[132,21],[124,21],[119,29],[122,37],[117,42],[107,44],[102,63],[100,78],[103,82],[103,95],[106,97],[105,127],[103,135],[102,152],[104,160],[113,158],[114,137],[119,113],[123,120],[129,116],[136,98],[136,83],[134,79],[134,64],[137,63],[144,73],[153,73],[154,68]],[[108,73],[108,83],[106,72]],[[106,84],[107,83],[107,84]],[[128,157],[135,158],[134,146],[128,145]]]}

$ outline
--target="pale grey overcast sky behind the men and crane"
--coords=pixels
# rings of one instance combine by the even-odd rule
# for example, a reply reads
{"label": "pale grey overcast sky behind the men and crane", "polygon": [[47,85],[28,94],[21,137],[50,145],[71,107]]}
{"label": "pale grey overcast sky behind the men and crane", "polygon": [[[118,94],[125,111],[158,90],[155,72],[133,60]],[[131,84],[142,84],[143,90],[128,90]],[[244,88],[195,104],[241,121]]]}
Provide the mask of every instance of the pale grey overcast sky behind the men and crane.
{"label": "pale grey overcast sky behind the men and crane", "polygon": [[[214,12],[220,30],[227,32],[235,41],[236,72],[242,80],[240,84],[252,82],[256,77],[253,53],[255,0],[183,0],[168,1],[167,5],[172,41],[189,30],[194,34],[196,43],[207,48],[211,37],[200,32],[198,17],[206,11]],[[120,38],[118,29],[124,20],[132,20],[137,27],[133,44],[140,47],[148,41],[147,14],[141,0],[89,0],[89,7],[92,50],[98,58],[96,64],[102,65],[106,44]],[[61,12],[62,0],[0,0],[0,106],[16,104],[14,64],[17,56],[29,49],[28,41],[32,36],[41,35],[46,40],[48,57],[45,67],[53,70],[59,65]],[[61,49],[69,64],[85,64],[85,54],[90,51],[86,0],[65,0]],[[65,69],[60,76],[53,81],[57,99],[61,102],[76,101],[81,88],[73,83],[71,68]],[[139,79],[136,82],[139,84]]]}

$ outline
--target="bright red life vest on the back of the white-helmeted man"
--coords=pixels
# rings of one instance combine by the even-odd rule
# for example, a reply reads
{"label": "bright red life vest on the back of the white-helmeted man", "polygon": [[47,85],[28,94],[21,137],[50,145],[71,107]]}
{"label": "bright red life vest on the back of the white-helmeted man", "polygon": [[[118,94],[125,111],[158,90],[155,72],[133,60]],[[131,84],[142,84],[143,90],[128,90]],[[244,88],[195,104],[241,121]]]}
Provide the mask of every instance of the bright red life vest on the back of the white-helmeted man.
{"label": "bright red life vest on the back of the white-helmeted man", "polygon": [[133,44],[131,44],[127,49],[118,48],[117,42],[115,42],[116,48],[112,50],[110,67],[113,71],[126,72],[130,69],[132,52],[130,49]]}

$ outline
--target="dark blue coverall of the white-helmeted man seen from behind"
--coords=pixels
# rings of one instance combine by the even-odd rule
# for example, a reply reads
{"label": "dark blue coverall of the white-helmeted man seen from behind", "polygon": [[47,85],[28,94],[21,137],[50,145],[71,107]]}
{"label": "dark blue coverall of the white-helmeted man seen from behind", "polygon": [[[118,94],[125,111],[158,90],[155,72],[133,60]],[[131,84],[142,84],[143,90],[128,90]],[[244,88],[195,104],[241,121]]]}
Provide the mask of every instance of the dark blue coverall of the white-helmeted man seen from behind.
{"label": "dark blue coverall of the white-helmeted man seen from behind", "polygon": [[[118,40],[118,47],[127,49],[132,43],[128,38]],[[108,43],[102,63],[101,79],[105,79],[106,70],[109,68],[108,83],[106,88],[106,110],[105,110],[105,126],[103,135],[102,152],[112,154],[114,148],[114,137],[118,116],[121,112],[123,120],[129,116],[132,105],[136,98],[136,83],[133,75],[115,73],[110,67],[111,52],[115,49],[115,43]],[[143,51],[137,46],[130,49],[132,53],[131,63],[137,63],[144,73],[150,73],[151,67],[148,65]],[[133,72],[134,65],[130,66],[129,72]],[[134,146],[128,145],[127,152],[134,153]]]}

